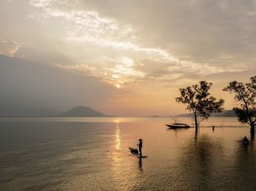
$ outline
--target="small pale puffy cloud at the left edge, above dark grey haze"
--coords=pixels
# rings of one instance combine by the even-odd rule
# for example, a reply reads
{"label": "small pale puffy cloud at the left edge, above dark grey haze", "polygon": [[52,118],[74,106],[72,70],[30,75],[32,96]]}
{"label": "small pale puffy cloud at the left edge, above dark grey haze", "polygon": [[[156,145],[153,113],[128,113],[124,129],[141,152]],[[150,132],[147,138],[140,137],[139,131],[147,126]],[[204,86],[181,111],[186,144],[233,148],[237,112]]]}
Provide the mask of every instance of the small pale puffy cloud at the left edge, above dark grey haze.
{"label": "small pale puffy cloud at the left edge, above dark grey haze", "polygon": [[0,54],[8,57],[14,57],[18,51],[20,44],[15,41],[1,41],[0,42]]}

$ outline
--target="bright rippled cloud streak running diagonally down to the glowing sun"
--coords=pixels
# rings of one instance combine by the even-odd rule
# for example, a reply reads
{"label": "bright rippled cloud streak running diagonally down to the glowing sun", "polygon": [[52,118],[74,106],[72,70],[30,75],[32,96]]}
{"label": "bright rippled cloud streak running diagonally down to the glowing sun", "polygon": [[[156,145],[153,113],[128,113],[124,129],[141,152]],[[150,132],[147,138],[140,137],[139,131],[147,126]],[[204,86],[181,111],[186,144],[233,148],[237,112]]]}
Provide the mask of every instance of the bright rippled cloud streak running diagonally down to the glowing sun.
{"label": "bright rippled cloud streak running diagonally down to the glowing sun", "polygon": [[[162,81],[162,79],[178,79],[184,73],[207,75],[224,71],[243,71],[246,68],[234,66],[220,66],[200,63],[193,60],[178,59],[168,50],[159,47],[146,47],[141,44],[142,37],[135,28],[119,23],[115,18],[102,17],[97,11],[84,11],[76,8],[69,9],[79,1],[69,0],[31,0],[30,5],[41,10],[45,19],[55,18],[64,24],[66,36],[64,39],[69,44],[87,44],[105,49],[106,52],[114,52],[113,57],[106,55],[102,65],[94,64],[95,61],[87,61],[89,65],[56,65],[59,69],[86,71],[95,77],[100,77],[105,82],[113,85],[125,85],[136,82],[144,77]],[[61,26],[61,25],[60,25]],[[116,53],[118,52],[118,53]],[[104,52],[99,52],[104,54]],[[92,59],[93,60],[93,59]],[[156,67],[148,66],[148,63],[140,63],[141,60],[154,61]],[[196,59],[195,59],[196,60]],[[81,61],[80,61],[81,63]],[[83,63],[83,61],[82,61]],[[138,67],[139,64],[142,64]],[[92,67],[93,66],[93,67]],[[154,69],[153,69],[154,68]],[[167,74],[169,72],[169,74]]]}

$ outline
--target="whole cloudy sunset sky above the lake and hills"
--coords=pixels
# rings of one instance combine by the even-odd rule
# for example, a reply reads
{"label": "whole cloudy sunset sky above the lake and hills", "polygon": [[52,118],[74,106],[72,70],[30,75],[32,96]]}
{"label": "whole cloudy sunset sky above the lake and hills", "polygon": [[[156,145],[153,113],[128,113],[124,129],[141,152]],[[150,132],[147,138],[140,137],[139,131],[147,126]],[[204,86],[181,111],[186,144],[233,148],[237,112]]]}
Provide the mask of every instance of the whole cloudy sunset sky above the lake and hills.
{"label": "whole cloudy sunset sky above the lake and hills", "polygon": [[0,104],[184,113],[179,87],[256,73],[255,0],[1,0]]}

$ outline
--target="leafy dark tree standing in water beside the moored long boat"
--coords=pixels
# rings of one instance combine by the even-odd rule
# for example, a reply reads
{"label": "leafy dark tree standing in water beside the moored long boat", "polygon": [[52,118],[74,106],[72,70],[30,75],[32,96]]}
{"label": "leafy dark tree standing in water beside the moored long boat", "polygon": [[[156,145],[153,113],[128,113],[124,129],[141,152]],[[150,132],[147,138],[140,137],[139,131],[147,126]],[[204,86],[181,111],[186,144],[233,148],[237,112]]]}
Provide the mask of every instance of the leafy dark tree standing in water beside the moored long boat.
{"label": "leafy dark tree standing in water beside the moored long boat", "polygon": [[207,120],[212,113],[222,112],[224,100],[214,98],[208,90],[211,89],[212,83],[200,81],[199,85],[192,85],[186,88],[180,88],[181,96],[176,98],[176,102],[186,104],[189,112],[195,119],[195,130],[199,127],[197,117]]}

